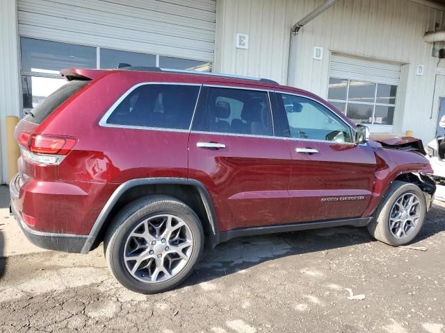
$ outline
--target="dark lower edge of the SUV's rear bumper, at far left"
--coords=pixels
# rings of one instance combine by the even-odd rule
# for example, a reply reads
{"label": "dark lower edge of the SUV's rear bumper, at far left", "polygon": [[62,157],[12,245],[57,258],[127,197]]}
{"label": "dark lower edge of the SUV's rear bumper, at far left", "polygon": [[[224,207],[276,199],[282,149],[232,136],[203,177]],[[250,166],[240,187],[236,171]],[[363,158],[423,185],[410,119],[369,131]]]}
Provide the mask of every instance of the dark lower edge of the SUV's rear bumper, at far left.
{"label": "dark lower edge of the SUV's rear bumper, at far left", "polygon": [[83,245],[86,243],[88,236],[77,234],[60,234],[55,232],[42,232],[33,230],[24,223],[22,216],[15,207],[19,198],[19,179],[18,174],[11,180],[10,186],[10,212],[14,215],[15,220],[19,223],[20,228],[26,238],[35,246],[47,248],[48,250],[58,250],[70,253],[81,253]]}

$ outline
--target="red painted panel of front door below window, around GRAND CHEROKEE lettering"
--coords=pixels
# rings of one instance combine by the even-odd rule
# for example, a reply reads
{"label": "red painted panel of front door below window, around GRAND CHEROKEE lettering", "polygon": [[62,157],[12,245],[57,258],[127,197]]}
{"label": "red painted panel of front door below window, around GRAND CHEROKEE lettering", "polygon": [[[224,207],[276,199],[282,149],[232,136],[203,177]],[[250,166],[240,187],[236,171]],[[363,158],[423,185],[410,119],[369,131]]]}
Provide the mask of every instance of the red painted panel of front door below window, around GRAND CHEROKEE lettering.
{"label": "red painted panel of front door below window, around GRAND CHEROKEE lettering", "polygon": [[[371,198],[375,156],[369,147],[335,142],[286,140],[291,148],[291,206],[287,222],[320,221],[362,216]],[[314,148],[313,155],[296,148]],[[323,198],[364,196],[361,200]]]}

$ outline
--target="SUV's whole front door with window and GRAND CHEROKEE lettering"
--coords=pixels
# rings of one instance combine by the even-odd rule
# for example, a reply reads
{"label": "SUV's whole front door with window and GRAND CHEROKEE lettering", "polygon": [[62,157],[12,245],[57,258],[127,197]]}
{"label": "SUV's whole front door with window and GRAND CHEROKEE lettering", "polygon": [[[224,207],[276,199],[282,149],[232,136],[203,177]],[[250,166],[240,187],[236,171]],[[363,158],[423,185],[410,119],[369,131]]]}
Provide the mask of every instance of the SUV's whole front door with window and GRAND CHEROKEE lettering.
{"label": "SUV's whole front door with window and GRAND CHEROKEE lettering", "polygon": [[362,216],[371,198],[375,155],[353,143],[353,129],[307,96],[277,93],[292,155],[286,222]]}

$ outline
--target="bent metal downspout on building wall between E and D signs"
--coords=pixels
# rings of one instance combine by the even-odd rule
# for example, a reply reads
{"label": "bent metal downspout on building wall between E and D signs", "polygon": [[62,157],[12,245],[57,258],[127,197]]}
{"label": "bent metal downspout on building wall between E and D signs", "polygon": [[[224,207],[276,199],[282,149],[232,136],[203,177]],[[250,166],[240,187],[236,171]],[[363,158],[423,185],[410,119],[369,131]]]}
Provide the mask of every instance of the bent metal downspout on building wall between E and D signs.
{"label": "bent metal downspout on building wall between E and D signs", "polygon": [[311,22],[313,19],[318,17],[322,12],[334,5],[338,0],[326,0],[320,6],[309,12],[305,17],[300,19],[291,28],[291,40],[289,44],[289,66],[287,67],[287,85],[295,85],[296,67],[297,67],[297,37],[298,31],[305,26],[307,23]]}

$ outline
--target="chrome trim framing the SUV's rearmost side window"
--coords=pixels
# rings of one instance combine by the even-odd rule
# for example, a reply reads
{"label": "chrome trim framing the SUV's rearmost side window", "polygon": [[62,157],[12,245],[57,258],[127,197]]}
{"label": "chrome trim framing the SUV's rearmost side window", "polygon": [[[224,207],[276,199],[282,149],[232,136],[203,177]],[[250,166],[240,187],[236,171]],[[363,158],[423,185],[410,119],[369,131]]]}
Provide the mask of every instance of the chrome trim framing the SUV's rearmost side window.
{"label": "chrome trim framing the SUV's rearmost side window", "polygon": [[[118,105],[122,103],[122,101],[129,95],[131,92],[133,92],[134,89],[137,89],[138,87],[141,87],[143,85],[189,85],[189,86],[196,86],[200,87],[197,94],[197,99],[195,102],[195,109],[192,113],[192,118],[190,121],[190,124],[188,125],[188,128],[163,128],[163,127],[150,127],[150,126],[136,126],[136,125],[121,125],[118,123],[107,123],[108,118],[111,116],[115,108],[118,108]],[[202,84],[200,83],[177,83],[177,82],[141,82],[137,83],[136,85],[133,85],[130,87],[122,96],[119,97],[117,101],[111,105],[110,108],[105,112],[104,116],[99,120],[99,126],[102,127],[110,127],[110,128],[129,128],[129,129],[135,129],[135,130],[158,130],[158,131],[166,131],[166,132],[179,132],[179,133],[190,133],[191,124],[193,123],[193,117],[195,115],[195,110],[197,106],[197,101],[200,99],[200,93],[201,93]]]}

